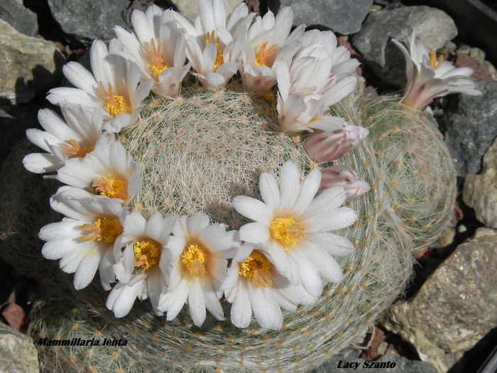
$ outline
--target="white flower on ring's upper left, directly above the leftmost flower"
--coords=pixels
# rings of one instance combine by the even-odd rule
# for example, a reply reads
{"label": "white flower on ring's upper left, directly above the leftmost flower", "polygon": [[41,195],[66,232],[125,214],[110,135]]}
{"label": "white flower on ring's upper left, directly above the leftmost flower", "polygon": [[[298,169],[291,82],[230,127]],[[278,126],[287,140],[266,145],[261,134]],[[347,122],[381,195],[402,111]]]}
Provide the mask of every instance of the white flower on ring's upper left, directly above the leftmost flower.
{"label": "white flower on ring's upper left, directly above the leftmost flower", "polygon": [[70,62],[62,67],[67,80],[76,88],[58,87],[50,90],[47,99],[52,104],[69,102],[102,110],[104,129],[120,131],[136,118],[141,102],[153,86],[153,81],[138,85],[141,70],[129,60],[124,60],[116,40],[111,40],[109,49],[102,40],[95,40],[90,48],[92,72],[82,65]]}

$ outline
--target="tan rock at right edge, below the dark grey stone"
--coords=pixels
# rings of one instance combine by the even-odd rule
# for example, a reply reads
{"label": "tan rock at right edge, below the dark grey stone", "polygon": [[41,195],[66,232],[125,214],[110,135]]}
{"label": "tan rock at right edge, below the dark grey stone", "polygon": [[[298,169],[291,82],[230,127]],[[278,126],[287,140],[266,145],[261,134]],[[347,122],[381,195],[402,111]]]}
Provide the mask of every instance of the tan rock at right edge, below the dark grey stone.
{"label": "tan rock at right edge, below the dark grey stone", "polygon": [[497,139],[485,153],[481,175],[466,176],[462,199],[485,227],[497,229]]}

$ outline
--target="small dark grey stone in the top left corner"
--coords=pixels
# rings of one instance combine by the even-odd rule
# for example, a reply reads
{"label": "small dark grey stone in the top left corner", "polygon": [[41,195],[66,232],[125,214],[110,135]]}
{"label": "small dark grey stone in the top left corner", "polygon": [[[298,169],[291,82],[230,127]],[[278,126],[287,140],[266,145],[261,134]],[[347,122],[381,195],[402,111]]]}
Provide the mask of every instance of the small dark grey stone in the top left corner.
{"label": "small dark grey stone in the top left corner", "polygon": [[0,3],[0,18],[7,21],[13,28],[27,36],[38,34],[36,14],[16,0],[2,0]]}

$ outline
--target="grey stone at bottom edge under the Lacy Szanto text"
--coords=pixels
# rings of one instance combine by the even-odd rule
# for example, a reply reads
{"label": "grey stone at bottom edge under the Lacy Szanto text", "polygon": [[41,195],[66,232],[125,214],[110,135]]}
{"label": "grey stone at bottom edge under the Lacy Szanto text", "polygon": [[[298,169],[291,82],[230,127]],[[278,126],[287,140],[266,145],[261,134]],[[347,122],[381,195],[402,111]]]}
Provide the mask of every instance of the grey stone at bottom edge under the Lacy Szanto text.
{"label": "grey stone at bottom edge under the Lacy Szanto text", "polygon": [[[346,363],[348,363],[350,367],[351,362],[359,364],[356,369],[345,367]],[[373,369],[374,372],[381,373],[437,373],[437,369],[432,367],[430,363],[408,360],[403,356],[395,354],[383,355],[374,362],[359,359],[357,357],[338,355],[312,370],[312,373],[367,373],[371,372],[371,369]]]}

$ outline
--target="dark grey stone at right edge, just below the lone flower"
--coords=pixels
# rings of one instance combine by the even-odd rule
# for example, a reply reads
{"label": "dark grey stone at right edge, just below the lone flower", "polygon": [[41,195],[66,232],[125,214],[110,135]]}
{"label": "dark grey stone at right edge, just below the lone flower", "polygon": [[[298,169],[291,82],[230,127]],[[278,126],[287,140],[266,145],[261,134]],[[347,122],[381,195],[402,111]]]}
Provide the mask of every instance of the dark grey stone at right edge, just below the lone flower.
{"label": "dark grey stone at right edge, just below the lone flower", "polygon": [[480,172],[481,158],[497,136],[497,81],[477,81],[476,89],[483,94],[460,94],[440,120],[460,176]]}

